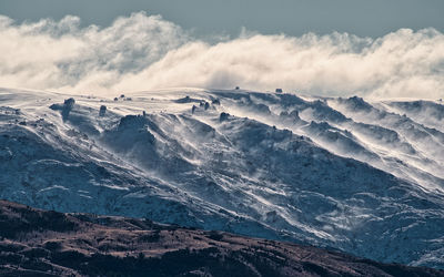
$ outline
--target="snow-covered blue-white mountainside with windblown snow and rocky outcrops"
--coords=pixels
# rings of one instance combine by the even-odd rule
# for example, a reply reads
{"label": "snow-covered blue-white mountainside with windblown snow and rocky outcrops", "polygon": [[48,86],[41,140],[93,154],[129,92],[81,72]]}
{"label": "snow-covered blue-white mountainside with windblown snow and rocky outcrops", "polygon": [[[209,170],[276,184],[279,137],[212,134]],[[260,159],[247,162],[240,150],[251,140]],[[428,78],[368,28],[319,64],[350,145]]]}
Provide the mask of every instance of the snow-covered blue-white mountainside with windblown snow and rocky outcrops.
{"label": "snow-covered blue-white mountainside with windblown snow and rocky outcrops", "polygon": [[0,197],[444,268],[441,102],[113,96],[1,89]]}

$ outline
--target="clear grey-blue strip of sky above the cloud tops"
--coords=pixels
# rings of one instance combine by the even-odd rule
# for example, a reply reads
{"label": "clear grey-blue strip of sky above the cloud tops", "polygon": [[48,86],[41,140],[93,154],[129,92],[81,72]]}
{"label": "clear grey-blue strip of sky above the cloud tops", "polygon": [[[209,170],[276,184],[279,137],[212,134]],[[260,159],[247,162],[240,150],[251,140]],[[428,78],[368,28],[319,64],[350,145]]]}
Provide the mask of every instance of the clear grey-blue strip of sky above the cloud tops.
{"label": "clear grey-blue strip of sky above the cloud tops", "polygon": [[263,34],[332,31],[381,37],[400,28],[444,32],[444,0],[0,0],[0,14],[17,22],[78,16],[82,24],[110,25],[144,10],[195,35],[230,34],[242,27]]}

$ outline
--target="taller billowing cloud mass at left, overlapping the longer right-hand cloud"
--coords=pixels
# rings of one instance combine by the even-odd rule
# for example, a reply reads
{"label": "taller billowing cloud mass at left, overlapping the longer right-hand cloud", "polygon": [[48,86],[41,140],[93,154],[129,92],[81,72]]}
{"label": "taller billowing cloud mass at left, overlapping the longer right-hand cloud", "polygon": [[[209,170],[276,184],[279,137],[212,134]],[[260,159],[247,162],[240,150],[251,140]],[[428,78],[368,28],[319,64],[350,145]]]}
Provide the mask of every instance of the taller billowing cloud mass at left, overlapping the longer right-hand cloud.
{"label": "taller billowing cloud mass at left, overlapping the longer right-hand cloud", "polygon": [[65,17],[14,25],[0,18],[0,85],[54,90],[112,90],[188,41],[186,33],[161,17],[134,13],[109,28],[80,29]]}

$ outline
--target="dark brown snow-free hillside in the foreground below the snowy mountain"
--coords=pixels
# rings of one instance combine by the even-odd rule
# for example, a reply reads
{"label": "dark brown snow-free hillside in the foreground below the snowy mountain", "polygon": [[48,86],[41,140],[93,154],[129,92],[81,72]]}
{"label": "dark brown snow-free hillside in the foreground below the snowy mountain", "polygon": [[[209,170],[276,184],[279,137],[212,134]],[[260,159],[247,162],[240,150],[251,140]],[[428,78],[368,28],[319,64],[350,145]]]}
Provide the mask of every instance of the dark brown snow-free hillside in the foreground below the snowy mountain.
{"label": "dark brown snow-free hillside in the foreground below the snowy mountain", "polygon": [[310,246],[0,202],[0,276],[444,276]]}

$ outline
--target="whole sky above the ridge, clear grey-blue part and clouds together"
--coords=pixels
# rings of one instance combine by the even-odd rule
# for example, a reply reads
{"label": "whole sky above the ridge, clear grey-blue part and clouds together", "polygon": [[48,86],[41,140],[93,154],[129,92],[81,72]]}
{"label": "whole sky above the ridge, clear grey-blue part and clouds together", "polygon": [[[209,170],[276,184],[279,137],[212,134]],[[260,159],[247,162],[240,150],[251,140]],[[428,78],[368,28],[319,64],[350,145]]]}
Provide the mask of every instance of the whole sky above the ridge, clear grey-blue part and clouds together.
{"label": "whole sky above the ridge, clear grey-blue part and clouds together", "polygon": [[0,88],[444,98],[444,0],[0,0]]}

